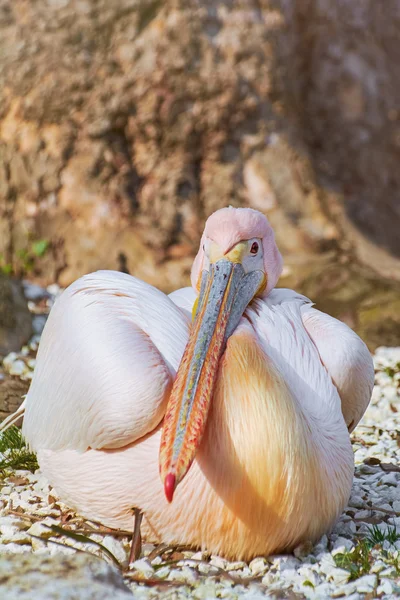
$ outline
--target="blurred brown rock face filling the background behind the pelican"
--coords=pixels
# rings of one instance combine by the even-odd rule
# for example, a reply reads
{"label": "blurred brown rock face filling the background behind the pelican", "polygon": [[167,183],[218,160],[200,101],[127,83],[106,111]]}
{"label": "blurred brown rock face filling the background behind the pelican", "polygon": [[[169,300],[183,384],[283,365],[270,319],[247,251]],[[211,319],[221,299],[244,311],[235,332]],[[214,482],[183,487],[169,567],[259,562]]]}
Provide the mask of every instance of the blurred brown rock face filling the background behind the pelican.
{"label": "blurred brown rock face filling the background behind the pelican", "polygon": [[0,0],[0,354],[31,334],[6,276],[171,291],[228,204],[280,285],[398,345],[399,33],[396,0]]}

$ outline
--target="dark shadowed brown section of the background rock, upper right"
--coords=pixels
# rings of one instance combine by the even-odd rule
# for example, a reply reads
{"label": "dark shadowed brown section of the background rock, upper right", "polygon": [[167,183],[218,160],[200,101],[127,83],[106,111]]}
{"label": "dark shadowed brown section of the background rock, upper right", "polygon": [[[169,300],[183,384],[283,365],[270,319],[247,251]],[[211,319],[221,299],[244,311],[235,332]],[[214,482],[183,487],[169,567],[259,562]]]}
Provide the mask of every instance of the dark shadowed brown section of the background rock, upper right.
{"label": "dark shadowed brown section of the background rock, upper right", "polygon": [[362,263],[400,280],[400,3],[279,4],[288,104],[326,213]]}

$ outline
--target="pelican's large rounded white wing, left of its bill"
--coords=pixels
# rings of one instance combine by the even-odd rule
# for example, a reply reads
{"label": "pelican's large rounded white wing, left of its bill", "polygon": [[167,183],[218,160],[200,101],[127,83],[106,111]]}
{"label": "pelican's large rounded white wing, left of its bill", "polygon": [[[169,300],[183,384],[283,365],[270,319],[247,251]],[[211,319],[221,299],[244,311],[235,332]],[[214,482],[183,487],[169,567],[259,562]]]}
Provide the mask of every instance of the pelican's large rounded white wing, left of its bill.
{"label": "pelican's large rounded white wing, left of its bill", "polygon": [[35,449],[118,448],[161,421],[189,319],[154,287],[99,271],[56,301],[43,331],[23,434]]}

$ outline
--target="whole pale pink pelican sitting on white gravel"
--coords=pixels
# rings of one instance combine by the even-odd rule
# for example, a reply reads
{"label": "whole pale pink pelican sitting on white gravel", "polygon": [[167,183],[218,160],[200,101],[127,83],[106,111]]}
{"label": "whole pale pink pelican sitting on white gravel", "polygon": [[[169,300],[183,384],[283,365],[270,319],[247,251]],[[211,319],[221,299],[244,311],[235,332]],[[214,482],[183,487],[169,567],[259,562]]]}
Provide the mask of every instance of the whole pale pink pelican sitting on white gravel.
{"label": "whole pale pink pelican sitting on white gravel", "polygon": [[206,222],[192,287],[98,271],[62,293],[16,417],[67,505],[125,529],[139,508],[149,541],[231,559],[331,529],[373,364],[344,323],[275,289],[281,271],[267,218],[230,207]]}

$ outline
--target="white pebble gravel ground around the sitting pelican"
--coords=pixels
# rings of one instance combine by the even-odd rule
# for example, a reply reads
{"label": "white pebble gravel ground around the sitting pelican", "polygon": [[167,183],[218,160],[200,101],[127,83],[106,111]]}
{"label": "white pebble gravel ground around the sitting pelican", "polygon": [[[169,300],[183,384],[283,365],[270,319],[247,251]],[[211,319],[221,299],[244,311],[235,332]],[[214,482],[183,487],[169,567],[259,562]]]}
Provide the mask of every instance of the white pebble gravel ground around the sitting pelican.
{"label": "white pebble gravel ground around the sitting pelican", "polygon": [[[41,322],[57,294],[54,287],[49,291],[49,297],[31,300]],[[39,331],[38,321],[38,334],[20,353],[4,360],[5,371],[32,376]],[[111,552],[136,598],[400,597],[400,348],[378,348],[374,362],[372,401],[352,435],[356,469],[349,505],[334,530],[316,546],[306,543],[292,555],[259,557],[247,564],[145,543],[142,557],[128,566],[128,535],[74,514],[57,499],[40,471],[17,471],[0,482],[0,553],[83,550],[112,561],[95,543],[49,529],[61,525],[90,536]]]}

